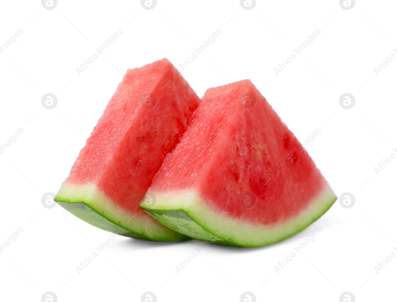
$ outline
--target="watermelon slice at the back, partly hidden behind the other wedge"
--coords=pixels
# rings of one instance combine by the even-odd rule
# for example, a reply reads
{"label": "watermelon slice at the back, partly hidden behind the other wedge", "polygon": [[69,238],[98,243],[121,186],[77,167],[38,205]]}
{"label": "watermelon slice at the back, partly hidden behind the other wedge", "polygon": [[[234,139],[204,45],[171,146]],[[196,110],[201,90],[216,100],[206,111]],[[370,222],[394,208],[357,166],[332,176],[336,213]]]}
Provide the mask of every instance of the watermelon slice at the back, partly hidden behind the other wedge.
{"label": "watermelon slice at the back, partly hidden behind the other wedge", "polygon": [[167,59],[129,69],[55,200],[106,231],[137,239],[186,240],[143,212],[139,202],[198,102]]}

